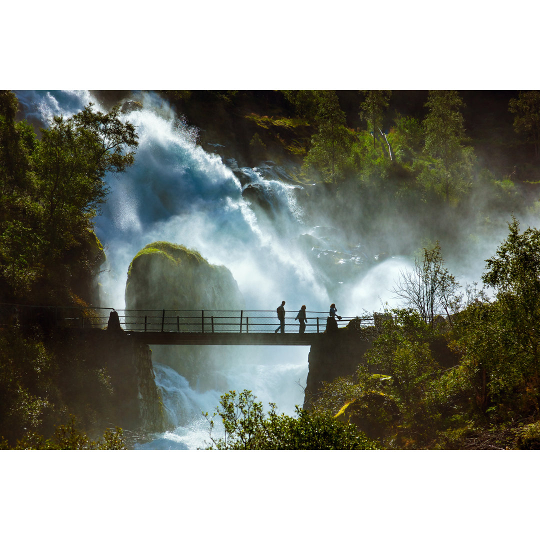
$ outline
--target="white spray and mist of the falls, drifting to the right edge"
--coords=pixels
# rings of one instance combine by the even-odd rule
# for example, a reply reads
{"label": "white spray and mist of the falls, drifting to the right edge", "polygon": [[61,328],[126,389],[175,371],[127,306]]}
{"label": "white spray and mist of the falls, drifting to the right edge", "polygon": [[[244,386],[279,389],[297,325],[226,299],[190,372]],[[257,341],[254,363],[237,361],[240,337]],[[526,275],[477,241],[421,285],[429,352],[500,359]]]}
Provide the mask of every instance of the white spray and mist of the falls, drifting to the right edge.
{"label": "white spray and mist of the falls, drifting to the right edge", "polygon": [[[48,125],[53,114],[76,113],[90,101],[104,110],[89,91],[16,94],[24,117],[35,127]],[[101,307],[125,308],[130,262],[154,241],[184,245],[211,264],[226,266],[246,309],[274,311],[285,300],[289,314],[302,305],[308,312],[327,312],[334,302],[340,315],[352,317],[382,311],[385,305],[400,307],[392,289],[426,242],[440,242],[449,271],[464,287],[481,281],[485,259],[508,234],[510,212],[494,213],[480,189],[465,214],[429,209],[417,215],[396,214],[392,200],[342,196],[338,205],[323,187],[294,183],[284,168],[268,163],[240,167],[240,181],[232,163],[197,144],[197,128],[178,118],[166,100],[151,92],[131,99],[143,105],[126,107],[122,114],[139,136],[135,163],[106,177],[110,193],[95,220],[107,257],[99,274]],[[374,216],[373,208],[379,214]],[[484,213],[490,221],[479,219]],[[534,208],[525,205],[515,214],[522,228],[538,225]],[[251,388],[262,401],[277,402],[281,411],[292,414],[303,401],[308,349],[240,349],[233,351],[237,361],[221,374],[227,389]],[[187,416],[200,430],[201,407],[211,410],[219,389],[201,393],[160,366],[159,355],[153,361],[170,421],[182,424],[178,429],[189,438],[193,430],[186,435]],[[186,444],[192,448],[194,443]]]}

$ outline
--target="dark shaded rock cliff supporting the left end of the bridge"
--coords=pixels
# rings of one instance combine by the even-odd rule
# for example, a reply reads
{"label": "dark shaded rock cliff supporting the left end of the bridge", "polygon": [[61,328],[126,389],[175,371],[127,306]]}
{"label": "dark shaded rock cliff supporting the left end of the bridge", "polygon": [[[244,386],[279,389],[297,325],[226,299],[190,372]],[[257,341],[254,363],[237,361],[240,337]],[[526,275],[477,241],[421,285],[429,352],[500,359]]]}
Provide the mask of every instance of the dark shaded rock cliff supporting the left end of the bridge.
{"label": "dark shaded rock cliff supporting the left end of the bridge", "polygon": [[147,345],[119,328],[58,329],[55,343],[64,355],[78,359],[77,365],[62,366],[60,388],[64,403],[90,435],[118,426],[132,444],[144,433],[167,428]]}

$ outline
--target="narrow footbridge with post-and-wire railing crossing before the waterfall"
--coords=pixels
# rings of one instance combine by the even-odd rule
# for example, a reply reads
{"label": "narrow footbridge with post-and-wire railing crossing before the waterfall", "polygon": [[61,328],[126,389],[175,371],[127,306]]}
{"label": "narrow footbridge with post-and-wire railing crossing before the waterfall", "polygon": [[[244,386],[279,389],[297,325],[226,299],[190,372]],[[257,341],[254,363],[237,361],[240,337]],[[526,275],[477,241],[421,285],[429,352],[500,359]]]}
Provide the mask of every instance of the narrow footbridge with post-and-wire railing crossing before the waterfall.
{"label": "narrow footbridge with post-and-wire railing crossing before the waterfall", "polygon": [[[275,310],[119,309],[106,307],[0,306],[2,320],[20,325],[39,323],[62,328],[90,339],[129,335],[146,345],[301,345],[318,342],[326,332],[328,312],[306,312],[305,333],[299,333],[296,311],[285,316],[285,333]],[[356,326],[374,325],[372,317],[342,317],[338,328],[355,320]],[[276,332],[276,330],[278,330]]]}

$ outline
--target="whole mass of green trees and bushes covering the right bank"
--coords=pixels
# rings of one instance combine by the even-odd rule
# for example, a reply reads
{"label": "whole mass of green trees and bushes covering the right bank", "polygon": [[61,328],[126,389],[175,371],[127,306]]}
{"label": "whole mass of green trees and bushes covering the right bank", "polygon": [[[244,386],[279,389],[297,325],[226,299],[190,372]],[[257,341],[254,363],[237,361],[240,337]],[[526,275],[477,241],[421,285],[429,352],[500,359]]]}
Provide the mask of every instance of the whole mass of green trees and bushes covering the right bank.
{"label": "whole mass of green trees and bushes covering the right bank", "polygon": [[[476,284],[456,296],[436,246],[426,260],[441,266],[426,276],[454,294],[453,326],[430,309],[389,312],[355,375],[325,383],[315,409],[345,416],[386,448],[536,448],[540,232],[520,234],[516,219],[509,230],[483,275],[495,301]],[[456,355],[446,370],[434,356],[441,342]]]}

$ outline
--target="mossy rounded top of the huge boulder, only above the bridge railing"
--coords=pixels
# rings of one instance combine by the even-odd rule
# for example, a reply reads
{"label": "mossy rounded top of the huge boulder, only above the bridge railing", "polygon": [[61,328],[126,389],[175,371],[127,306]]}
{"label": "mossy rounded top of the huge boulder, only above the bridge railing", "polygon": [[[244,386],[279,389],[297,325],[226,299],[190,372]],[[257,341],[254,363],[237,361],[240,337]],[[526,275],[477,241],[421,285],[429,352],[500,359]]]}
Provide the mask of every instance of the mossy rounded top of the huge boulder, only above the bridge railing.
{"label": "mossy rounded top of the huge boulder, only above the bridge railing", "polygon": [[170,242],[153,242],[131,261],[126,309],[244,309],[231,271],[200,253]]}

